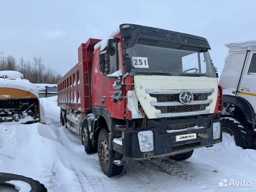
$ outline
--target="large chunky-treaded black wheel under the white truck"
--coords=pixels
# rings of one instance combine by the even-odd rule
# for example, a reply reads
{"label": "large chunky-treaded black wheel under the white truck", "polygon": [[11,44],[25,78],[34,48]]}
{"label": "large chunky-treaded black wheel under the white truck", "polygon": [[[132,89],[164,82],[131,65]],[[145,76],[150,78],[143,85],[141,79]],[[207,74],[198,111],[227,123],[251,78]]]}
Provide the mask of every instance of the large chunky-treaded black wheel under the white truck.
{"label": "large chunky-treaded black wheel under the white truck", "polygon": [[222,132],[228,132],[231,136],[234,135],[235,143],[243,149],[251,149],[253,138],[244,124],[232,117],[222,117],[219,119],[222,122]]}

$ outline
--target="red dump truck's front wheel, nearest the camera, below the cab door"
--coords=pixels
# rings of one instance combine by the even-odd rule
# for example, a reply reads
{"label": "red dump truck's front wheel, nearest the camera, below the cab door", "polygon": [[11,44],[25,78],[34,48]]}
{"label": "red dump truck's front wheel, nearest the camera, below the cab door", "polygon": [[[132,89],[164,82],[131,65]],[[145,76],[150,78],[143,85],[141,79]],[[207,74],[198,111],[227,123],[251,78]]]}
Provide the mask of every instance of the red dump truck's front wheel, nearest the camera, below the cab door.
{"label": "red dump truck's front wheel, nearest the camera, below the cab door", "polygon": [[98,137],[98,158],[103,173],[108,177],[121,174],[124,167],[124,165],[117,166],[113,164],[114,152],[109,148],[108,132],[106,129],[101,129]]}

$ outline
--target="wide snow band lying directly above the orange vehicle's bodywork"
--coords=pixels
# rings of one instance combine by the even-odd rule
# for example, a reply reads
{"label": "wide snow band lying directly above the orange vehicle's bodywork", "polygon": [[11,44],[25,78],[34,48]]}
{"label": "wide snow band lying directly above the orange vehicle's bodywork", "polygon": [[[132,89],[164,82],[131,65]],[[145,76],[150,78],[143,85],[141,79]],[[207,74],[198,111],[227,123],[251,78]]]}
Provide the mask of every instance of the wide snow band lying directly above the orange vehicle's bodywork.
{"label": "wide snow band lying directly above the orange vehicle's bodywork", "polygon": [[16,80],[0,78],[0,88],[2,88],[2,87],[28,91],[28,92],[31,92],[32,94],[36,95],[39,98],[37,86],[35,84],[28,82],[27,80],[23,80],[21,78],[17,78]]}

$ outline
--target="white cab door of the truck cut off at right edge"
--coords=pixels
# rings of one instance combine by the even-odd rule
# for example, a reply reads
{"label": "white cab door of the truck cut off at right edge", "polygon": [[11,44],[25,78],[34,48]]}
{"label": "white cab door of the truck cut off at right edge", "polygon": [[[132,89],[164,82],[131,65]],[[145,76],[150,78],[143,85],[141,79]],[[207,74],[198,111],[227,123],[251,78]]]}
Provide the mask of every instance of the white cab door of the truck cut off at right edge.
{"label": "white cab door of the truck cut off at right edge", "polygon": [[251,51],[247,57],[238,96],[249,101],[256,112],[256,51]]}

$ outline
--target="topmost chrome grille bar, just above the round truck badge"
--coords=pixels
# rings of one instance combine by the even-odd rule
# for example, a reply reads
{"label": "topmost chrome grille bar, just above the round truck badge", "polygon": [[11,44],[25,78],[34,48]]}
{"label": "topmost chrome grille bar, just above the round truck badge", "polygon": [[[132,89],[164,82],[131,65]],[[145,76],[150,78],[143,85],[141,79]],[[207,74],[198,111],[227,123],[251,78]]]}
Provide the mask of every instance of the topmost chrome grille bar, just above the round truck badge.
{"label": "topmost chrome grille bar, just above the round truck badge", "polygon": [[171,89],[145,89],[147,94],[180,94],[182,91],[190,91],[192,94],[213,93],[214,89],[191,89],[191,90],[171,90]]}

